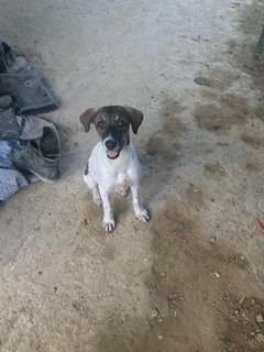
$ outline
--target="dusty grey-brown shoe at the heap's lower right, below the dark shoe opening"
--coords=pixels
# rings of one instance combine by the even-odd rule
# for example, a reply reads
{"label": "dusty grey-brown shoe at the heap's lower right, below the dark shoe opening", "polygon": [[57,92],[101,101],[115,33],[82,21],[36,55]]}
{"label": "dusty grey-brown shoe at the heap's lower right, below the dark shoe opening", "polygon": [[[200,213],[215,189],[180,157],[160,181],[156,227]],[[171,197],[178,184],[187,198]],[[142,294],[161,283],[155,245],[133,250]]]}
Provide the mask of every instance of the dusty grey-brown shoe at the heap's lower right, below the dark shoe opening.
{"label": "dusty grey-brown shoe at the heap's lower right, below the dark shoe opening", "polygon": [[28,170],[45,183],[59,177],[58,158],[48,158],[32,144],[19,145],[12,150],[12,161],[18,168]]}

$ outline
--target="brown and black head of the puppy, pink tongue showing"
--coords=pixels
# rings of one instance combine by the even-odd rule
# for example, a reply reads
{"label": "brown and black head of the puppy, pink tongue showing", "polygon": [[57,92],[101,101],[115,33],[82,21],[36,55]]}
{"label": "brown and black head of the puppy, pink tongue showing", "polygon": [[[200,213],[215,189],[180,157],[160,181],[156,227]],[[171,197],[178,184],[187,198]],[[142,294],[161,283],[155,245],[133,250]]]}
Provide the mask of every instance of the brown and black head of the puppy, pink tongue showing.
{"label": "brown and black head of the puppy, pink tongue showing", "polygon": [[130,143],[130,124],[136,134],[142,120],[143,113],[140,110],[119,106],[91,108],[80,117],[86,132],[89,132],[90,124],[95,123],[107,156],[112,160],[119,157],[122,147]]}

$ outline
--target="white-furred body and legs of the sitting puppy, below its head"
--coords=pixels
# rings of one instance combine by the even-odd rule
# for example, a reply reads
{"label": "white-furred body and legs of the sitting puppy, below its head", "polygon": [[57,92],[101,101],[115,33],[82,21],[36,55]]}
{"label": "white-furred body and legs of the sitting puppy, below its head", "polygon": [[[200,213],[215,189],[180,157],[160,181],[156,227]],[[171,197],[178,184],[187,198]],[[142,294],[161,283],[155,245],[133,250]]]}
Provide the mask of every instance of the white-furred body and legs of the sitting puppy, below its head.
{"label": "white-furred body and legs of the sitting puppy, below its head", "polygon": [[131,143],[122,148],[116,160],[108,158],[102,142],[94,147],[88,160],[88,174],[84,176],[84,180],[92,190],[95,202],[103,207],[102,224],[107,232],[111,232],[116,227],[109,200],[111,191],[125,194],[130,187],[136,218],[144,222],[150,220],[140,201],[140,163]]}

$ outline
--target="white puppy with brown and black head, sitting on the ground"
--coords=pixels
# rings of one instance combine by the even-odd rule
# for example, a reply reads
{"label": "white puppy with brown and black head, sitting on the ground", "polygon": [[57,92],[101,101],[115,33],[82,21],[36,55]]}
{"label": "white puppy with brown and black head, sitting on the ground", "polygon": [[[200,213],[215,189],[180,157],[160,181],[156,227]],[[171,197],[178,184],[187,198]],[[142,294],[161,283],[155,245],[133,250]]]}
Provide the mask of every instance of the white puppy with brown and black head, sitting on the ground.
{"label": "white puppy with brown and black head, sitting on the ground", "polygon": [[127,196],[131,190],[136,218],[143,222],[150,220],[140,200],[140,163],[129,134],[130,125],[133,133],[138,133],[142,120],[141,111],[119,106],[91,108],[80,117],[85,131],[89,132],[90,124],[95,123],[101,138],[88,160],[84,180],[92,190],[94,201],[103,208],[102,226],[107,232],[116,227],[109,199],[111,191]]}

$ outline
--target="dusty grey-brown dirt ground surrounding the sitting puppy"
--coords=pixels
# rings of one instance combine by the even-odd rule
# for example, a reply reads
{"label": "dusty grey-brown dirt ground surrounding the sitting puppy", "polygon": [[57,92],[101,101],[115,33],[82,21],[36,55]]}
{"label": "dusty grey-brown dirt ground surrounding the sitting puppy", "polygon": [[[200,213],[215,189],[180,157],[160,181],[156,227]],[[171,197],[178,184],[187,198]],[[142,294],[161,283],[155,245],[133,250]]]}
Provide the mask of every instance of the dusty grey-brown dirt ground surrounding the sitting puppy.
{"label": "dusty grey-brown dirt ground surrounding the sitting puppy", "polygon": [[[263,1],[2,1],[1,40],[61,108],[62,178],[0,205],[3,352],[264,351]],[[264,55],[264,54],[263,54]],[[82,182],[88,107],[144,112],[132,136],[148,224]]]}

